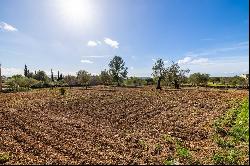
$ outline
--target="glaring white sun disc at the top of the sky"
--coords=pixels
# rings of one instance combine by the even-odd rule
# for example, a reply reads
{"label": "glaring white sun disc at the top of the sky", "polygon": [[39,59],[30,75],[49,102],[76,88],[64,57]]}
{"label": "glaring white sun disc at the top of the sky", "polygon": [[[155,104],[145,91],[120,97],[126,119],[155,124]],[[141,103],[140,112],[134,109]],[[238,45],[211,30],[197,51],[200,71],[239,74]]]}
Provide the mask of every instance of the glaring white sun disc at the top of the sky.
{"label": "glaring white sun disc at the top of the sky", "polygon": [[89,0],[61,0],[63,19],[71,24],[89,24],[94,20],[95,9]]}

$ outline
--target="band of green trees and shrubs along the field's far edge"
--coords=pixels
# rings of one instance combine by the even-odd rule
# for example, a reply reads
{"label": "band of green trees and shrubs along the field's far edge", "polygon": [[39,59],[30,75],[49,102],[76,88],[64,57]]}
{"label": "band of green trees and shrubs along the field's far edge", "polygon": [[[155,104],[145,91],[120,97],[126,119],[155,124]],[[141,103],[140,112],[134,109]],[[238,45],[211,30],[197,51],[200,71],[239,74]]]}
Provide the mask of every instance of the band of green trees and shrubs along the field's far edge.
{"label": "band of green trees and shrubs along the field's far edge", "polygon": [[248,79],[240,76],[234,77],[210,77],[206,73],[193,73],[189,77],[189,69],[181,69],[178,63],[172,62],[168,67],[164,66],[164,61],[158,59],[152,67],[152,76],[147,78],[127,77],[127,67],[125,62],[119,56],[115,56],[109,62],[109,69],[101,71],[99,75],[91,75],[86,70],[79,70],[76,76],[63,75],[59,71],[55,75],[51,69],[51,75],[47,76],[44,71],[38,70],[31,72],[28,66],[24,67],[24,76],[14,75],[10,78],[3,77],[7,91],[23,91],[30,88],[53,88],[53,87],[76,87],[84,86],[85,88],[95,85],[112,85],[138,87],[145,85],[170,86],[180,88],[180,86],[206,86],[206,87],[229,87],[241,86],[248,87]]}

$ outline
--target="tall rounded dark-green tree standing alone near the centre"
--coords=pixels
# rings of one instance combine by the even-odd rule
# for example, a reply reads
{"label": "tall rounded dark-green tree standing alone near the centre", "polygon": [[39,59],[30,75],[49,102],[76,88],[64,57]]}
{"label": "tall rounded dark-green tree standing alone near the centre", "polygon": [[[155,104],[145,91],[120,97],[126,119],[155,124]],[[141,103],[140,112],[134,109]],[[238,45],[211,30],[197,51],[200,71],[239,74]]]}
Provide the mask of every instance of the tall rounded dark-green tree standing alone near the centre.
{"label": "tall rounded dark-green tree standing alone near the centre", "polygon": [[117,86],[120,86],[120,82],[127,77],[128,68],[125,67],[125,62],[119,56],[115,56],[109,63],[109,72]]}

